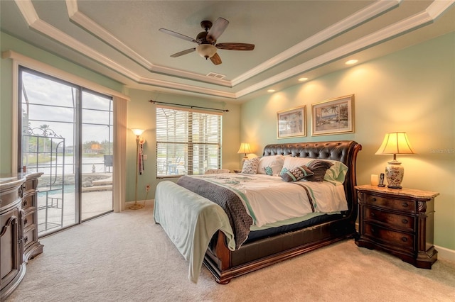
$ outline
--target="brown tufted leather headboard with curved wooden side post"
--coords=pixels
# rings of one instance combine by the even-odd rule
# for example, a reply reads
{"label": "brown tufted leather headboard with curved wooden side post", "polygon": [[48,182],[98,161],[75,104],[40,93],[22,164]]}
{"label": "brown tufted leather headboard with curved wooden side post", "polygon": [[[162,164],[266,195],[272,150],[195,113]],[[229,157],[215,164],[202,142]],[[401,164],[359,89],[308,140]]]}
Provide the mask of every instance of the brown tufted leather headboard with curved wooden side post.
{"label": "brown tufted leather headboard with curved wooden side post", "polygon": [[[357,184],[355,176],[355,162],[357,153],[362,150],[353,140],[339,140],[329,142],[288,142],[282,144],[270,144],[264,147],[262,156],[291,155],[295,157],[309,157],[320,160],[338,160],[348,166],[348,173],[344,181],[346,199],[348,200],[348,216],[357,216],[357,196],[354,186]],[[353,209],[355,211],[353,211]],[[355,218],[354,217],[354,218]]]}

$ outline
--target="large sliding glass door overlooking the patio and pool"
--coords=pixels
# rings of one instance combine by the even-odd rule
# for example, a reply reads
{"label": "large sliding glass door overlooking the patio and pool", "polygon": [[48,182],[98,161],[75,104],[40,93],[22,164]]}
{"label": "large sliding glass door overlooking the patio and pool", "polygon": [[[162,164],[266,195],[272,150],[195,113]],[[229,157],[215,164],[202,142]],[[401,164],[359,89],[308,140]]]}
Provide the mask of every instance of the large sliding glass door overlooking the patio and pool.
{"label": "large sliding glass door overlooking the patio and pool", "polygon": [[112,211],[112,98],[19,69],[18,171],[42,172],[38,235]]}

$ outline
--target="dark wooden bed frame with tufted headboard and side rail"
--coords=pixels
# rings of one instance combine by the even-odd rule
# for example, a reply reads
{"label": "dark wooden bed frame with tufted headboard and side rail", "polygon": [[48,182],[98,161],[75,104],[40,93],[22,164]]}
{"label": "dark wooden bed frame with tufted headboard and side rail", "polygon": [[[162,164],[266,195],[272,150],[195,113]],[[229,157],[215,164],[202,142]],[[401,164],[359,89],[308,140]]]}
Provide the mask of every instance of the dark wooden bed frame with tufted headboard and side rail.
{"label": "dark wooden bed frame with tufted headboard and side rail", "polygon": [[362,146],[355,141],[301,142],[272,144],[264,147],[263,156],[292,155],[321,160],[338,160],[348,166],[344,182],[348,211],[343,218],[319,225],[294,230],[243,244],[238,250],[230,251],[223,232],[215,234],[213,244],[205,252],[205,267],[215,276],[219,284],[242,274],[301,255],[333,242],[355,235],[355,220],[358,204],[354,186],[355,162]]}

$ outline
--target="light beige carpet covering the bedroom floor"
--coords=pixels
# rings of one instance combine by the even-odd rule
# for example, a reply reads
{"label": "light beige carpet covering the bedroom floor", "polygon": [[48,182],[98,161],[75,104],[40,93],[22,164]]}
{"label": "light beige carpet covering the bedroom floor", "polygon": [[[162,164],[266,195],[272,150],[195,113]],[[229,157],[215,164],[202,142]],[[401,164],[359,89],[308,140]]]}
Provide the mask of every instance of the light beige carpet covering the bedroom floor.
{"label": "light beige carpet covering the bedroom floor", "polygon": [[152,208],[112,213],[41,239],[6,301],[455,301],[455,264],[417,269],[346,240],[220,285],[188,263]]}

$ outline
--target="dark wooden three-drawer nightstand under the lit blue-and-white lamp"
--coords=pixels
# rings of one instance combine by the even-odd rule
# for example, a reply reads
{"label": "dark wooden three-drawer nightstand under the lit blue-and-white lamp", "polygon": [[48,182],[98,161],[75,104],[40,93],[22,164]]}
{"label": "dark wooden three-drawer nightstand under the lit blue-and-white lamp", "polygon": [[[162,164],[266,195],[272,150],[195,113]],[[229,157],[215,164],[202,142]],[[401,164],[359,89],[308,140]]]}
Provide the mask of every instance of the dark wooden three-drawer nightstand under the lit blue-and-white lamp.
{"label": "dark wooden three-drawer nightstand under the lit blue-and-white lamp", "polygon": [[358,196],[359,247],[384,250],[422,269],[437,260],[433,245],[434,197],[415,189],[355,186]]}

